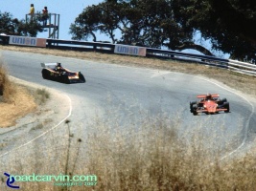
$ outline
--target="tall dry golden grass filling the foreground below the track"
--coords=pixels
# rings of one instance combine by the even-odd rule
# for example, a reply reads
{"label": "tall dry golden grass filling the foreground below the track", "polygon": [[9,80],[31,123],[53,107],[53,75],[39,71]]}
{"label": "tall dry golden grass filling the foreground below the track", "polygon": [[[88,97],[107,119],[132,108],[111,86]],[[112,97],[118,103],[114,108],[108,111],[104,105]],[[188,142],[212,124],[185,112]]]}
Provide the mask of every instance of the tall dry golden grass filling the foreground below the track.
{"label": "tall dry golden grass filling the foreground below the track", "polygon": [[[51,140],[50,147],[40,150],[40,144],[34,142],[31,145],[34,152],[28,154],[25,152],[28,148],[20,149],[12,154],[14,162],[7,165],[15,175],[96,175],[96,186],[54,186],[55,180],[15,184],[22,190],[33,191],[254,191],[256,188],[255,156],[221,164],[218,154],[214,159],[211,151],[205,149],[205,142],[198,138],[186,142],[178,133],[179,121],[170,123],[165,117],[142,118],[140,127],[130,123],[123,128],[113,122],[96,118],[90,125],[88,137],[82,139],[70,136],[69,131],[63,129],[69,136],[62,138],[65,143],[58,145],[58,140],[48,135],[44,141]],[[72,126],[72,121],[68,125]],[[67,149],[68,139],[73,142],[70,149]],[[27,153],[25,160],[20,158],[24,152]]]}

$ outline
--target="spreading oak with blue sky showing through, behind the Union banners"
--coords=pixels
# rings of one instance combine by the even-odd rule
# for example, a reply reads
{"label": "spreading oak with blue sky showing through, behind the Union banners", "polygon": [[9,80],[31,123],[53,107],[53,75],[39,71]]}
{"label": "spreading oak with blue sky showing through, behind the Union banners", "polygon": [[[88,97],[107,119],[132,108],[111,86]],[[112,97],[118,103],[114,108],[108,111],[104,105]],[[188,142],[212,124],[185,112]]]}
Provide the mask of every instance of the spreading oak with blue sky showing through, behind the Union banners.
{"label": "spreading oak with blue sky showing through, behind the Union banners", "polygon": [[[73,39],[87,39],[97,32],[105,33],[112,43],[140,45],[171,50],[195,49],[212,55],[193,41],[194,29],[176,22],[172,1],[117,0],[105,1],[85,8],[71,24]],[[116,33],[121,37],[116,38]]]}

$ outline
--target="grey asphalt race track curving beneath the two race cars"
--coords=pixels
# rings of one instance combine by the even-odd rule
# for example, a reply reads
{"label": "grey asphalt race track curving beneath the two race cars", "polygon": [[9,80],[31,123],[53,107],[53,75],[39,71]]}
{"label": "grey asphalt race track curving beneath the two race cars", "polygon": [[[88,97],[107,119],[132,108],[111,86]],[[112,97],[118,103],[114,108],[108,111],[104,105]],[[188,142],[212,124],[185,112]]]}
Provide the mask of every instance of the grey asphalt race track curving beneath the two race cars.
{"label": "grey asphalt race track curving beneath the two race cars", "polygon": [[[121,125],[140,117],[167,116],[179,120],[180,132],[193,135],[202,131],[211,137],[220,134],[223,142],[236,142],[232,151],[244,146],[255,133],[255,103],[216,81],[188,74],[97,63],[90,60],[34,53],[3,51],[2,57],[12,76],[58,89],[71,98],[72,131],[86,128],[95,115],[107,120],[118,118]],[[41,76],[41,62],[60,62],[71,71],[81,71],[86,83],[62,84]],[[198,94],[217,93],[230,103],[229,114],[194,117],[189,102]],[[218,136],[217,136],[218,137]],[[228,155],[228,154],[227,154]]]}

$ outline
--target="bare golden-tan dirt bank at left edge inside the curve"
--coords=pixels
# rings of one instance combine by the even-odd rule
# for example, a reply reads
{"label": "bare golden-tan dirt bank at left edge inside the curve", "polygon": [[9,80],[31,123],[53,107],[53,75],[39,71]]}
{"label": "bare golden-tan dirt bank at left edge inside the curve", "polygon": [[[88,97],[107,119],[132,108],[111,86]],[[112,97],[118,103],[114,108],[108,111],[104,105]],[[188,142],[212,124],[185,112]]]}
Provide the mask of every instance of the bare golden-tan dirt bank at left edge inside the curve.
{"label": "bare golden-tan dirt bank at left edge inside the curve", "polygon": [[11,103],[0,103],[0,127],[15,125],[19,117],[35,111],[35,99],[24,87],[15,85],[15,93]]}

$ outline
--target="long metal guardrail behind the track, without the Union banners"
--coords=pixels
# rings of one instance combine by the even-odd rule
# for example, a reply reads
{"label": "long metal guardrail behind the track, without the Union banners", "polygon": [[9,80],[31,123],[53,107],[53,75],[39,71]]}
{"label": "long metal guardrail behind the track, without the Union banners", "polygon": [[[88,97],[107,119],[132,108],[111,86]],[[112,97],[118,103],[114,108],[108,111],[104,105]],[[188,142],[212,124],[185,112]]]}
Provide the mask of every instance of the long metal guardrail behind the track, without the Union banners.
{"label": "long metal guardrail behind the track, without the Union banners", "polygon": [[[25,36],[22,36],[26,38]],[[0,44],[9,45],[10,36],[0,35]],[[26,46],[24,44],[18,44]],[[99,52],[99,53],[115,53],[115,47],[120,46],[118,44],[104,43],[104,42],[87,42],[76,40],[58,40],[58,39],[46,39],[46,48],[58,49],[58,50],[72,50],[81,52]],[[127,45],[123,45],[127,46]],[[135,46],[127,46],[128,48]],[[139,49],[139,47],[137,47]],[[229,71],[233,71],[241,74],[248,74],[256,76],[256,65],[246,62],[241,62],[231,59],[223,59],[215,56],[201,55],[196,53],[180,53],[168,50],[159,49],[146,49],[146,57],[157,57],[161,59],[176,59],[184,60],[186,62],[197,62],[199,64],[224,68]],[[130,54],[130,53],[128,53]]]}

